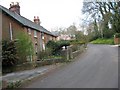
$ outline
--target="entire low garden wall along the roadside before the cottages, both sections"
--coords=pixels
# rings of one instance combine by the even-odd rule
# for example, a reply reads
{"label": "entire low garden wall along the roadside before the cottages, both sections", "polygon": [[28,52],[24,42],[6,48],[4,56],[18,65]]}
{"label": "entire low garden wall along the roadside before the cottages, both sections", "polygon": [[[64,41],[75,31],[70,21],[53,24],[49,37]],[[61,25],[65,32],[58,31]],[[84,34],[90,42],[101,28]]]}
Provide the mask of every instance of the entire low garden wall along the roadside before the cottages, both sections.
{"label": "entire low garden wall along the roadside before the cottages, both sections", "polygon": [[55,63],[63,63],[78,56],[81,52],[84,51],[85,47],[86,47],[85,44],[68,46],[67,49],[62,50],[60,58],[51,58],[51,59],[44,59],[39,61],[26,62],[21,65],[16,65],[11,68],[6,68],[3,70],[2,73],[6,74],[11,72],[30,70],[40,66],[51,65]]}

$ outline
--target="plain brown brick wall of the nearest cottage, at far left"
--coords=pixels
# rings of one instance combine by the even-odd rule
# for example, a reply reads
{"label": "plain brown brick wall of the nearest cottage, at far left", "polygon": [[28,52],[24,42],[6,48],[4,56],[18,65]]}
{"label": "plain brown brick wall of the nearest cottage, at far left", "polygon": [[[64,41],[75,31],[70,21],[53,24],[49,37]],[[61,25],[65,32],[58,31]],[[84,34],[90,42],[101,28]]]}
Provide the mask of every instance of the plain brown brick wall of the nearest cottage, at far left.
{"label": "plain brown brick wall of the nearest cottage, at far left", "polygon": [[2,39],[10,40],[10,23],[13,31],[13,38],[16,37],[17,33],[24,31],[24,27],[15,21],[15,19],[10,18],[7,14],[2,14]]}

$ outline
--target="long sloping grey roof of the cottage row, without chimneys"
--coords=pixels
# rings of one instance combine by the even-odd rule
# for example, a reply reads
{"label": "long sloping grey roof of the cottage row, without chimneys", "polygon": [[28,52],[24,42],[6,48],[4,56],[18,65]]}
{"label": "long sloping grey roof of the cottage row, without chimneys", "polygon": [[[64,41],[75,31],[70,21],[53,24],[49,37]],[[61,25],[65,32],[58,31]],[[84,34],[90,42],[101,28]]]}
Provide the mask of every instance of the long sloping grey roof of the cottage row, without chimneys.
{"label": "long sloping grey roof of the cottage row, without chimneys", "polygon": [[27,27],[30,27],[30,28],[33,28],[35,30],[38,30],[40,32],[44,32],[44,33],[47,33],[49,35],[53,35],[53,36],[56,36],[54,34],[52,34],[50,31],[46,30],[44,27],[28,20],[27,18],[19,15],[19,14],[16,14],[14,12],[11,12],[9,9],[3,7],[0,5],[0,9],[2,11],[4,11],[5,13],[7,13],[9,16],[11,16],[12,18],[14,18],[16,21],[18,21],[19,23],[21,23],[22,25],[24,26],[27,26]]}

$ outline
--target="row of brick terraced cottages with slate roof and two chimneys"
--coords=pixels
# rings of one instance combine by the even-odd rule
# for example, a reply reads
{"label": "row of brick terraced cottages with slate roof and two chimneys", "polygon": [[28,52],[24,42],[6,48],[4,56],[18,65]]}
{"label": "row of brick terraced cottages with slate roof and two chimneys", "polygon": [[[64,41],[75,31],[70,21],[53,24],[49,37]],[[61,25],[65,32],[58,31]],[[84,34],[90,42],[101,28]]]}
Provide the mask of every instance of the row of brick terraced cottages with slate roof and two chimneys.
{"label": "row of brick terraced cottages with slate roof and two chimneys", "polygon": [[34,21],[21,16],[19,3],[10,4],[7,9],[0,5],[0,17],[2,17],[2,40],[14,40],[20,31],[27,33],[33,42],[35,56],[31,60],[37,59],[37,52],[45,50],[45,44],[49,40],[56,40],[57,36],[52,34],[40,25],[39,17],[34,16]]}

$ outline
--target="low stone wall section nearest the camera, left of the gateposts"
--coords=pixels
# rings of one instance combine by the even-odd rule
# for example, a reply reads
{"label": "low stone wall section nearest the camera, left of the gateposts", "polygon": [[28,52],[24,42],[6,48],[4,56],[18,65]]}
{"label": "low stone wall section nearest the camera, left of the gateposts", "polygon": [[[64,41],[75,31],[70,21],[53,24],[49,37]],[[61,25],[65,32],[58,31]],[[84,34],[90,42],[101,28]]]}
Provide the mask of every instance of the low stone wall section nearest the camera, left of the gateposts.
{"label": "low stone wall section nearest the camera, left of the gateposts", "polygon": [[30,70],[34,69],[40,66],[45,66],[45,65],[51,65],[55,63],[62,63],[63,59],[62,58],[53,58],[53,59],[46,59],[46,60],[41,60],[41,61],[32,61],[32,62],[26,62],[21,65],[17,65],[14,67],[6,68],[3,70],[3,74],[11,73],[11,72],[17,72],[17,71],[24,71],[24,70]]}

